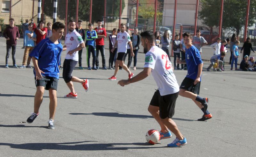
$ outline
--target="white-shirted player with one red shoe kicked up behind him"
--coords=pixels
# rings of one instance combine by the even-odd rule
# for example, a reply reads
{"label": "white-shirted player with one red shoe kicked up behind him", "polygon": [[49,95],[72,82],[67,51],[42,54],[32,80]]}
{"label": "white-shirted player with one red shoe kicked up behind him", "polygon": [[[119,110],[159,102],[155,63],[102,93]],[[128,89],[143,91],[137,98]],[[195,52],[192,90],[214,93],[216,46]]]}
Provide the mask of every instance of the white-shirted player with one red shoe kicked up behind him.
{"label": "white-shirted player with one red shoe kicked up behind him", "polygon": [[72,71],[74,70],[78,62],[78,51],[85,47],[84,40],[81,35],[76,32],[76,21],[70,20],[68,22],[68,33],[66,34],[65,46],[63,51],[67,50],[67,55],[63,63],[63,78],[67,83],[70,93],[64,96],[66,98],[77,98],[76,91],[74,89],[73,82],[79,82],[84,87],[87,92],[89,88],[89,81],[87,79],[82,80],[76,76],[72,76]]}

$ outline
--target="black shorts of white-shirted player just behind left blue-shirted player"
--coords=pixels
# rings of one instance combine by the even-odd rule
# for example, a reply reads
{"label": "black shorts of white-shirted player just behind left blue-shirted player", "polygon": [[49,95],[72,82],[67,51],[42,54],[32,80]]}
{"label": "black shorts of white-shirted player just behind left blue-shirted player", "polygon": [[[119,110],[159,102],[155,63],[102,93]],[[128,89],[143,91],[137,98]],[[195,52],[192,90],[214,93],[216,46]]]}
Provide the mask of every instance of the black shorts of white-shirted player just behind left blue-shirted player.
{"label": "black shorts of white-shirted player just behind left blue-shirted player", "polygon": [[77,61],[74,60],[67,60],[65,59],[63,62],[63,73],[62,77],[66,83],[70,82],[72,79],[72,72],[76,67]]}

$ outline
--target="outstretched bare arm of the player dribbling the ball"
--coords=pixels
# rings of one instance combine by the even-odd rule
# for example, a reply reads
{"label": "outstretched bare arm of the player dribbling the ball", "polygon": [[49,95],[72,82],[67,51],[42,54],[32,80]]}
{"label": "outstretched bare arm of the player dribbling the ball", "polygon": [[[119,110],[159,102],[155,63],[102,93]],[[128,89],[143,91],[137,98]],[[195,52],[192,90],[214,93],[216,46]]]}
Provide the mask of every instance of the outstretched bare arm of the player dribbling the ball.
{"label": "outstretched bare arm of the player dribbling the ball", "polygon": [[135,77],[129,79],[129,80],[121,80],[118,81],[117,84],[119,84],[120,86],[124,85],[128,85],[130,83],[134,83],[134,82],[138,82],[140,80],[145,79],[146,77],[148,77],[151,74],[151,68],[144,68],[143,71],[141,71],[138,75],[136,75]]}

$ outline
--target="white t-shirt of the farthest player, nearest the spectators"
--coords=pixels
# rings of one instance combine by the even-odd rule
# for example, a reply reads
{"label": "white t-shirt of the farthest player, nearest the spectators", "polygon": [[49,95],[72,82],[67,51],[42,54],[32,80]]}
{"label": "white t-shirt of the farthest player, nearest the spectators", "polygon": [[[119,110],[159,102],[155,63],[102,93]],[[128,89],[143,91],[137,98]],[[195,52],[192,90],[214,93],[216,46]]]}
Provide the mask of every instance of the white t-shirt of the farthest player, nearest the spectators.
{"label": "white t-shirt of the farthest player, nearest the spectators", "polygon": [[130,35],[127,32],[119,32],[117,34],[117,53],[127,51],[127,43],[131,41]]}

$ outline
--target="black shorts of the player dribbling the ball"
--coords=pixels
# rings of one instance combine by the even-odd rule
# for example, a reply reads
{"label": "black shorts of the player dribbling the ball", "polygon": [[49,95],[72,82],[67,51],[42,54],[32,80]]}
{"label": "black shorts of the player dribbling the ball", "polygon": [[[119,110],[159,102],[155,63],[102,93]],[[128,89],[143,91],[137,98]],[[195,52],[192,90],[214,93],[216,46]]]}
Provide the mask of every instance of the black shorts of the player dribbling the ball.
{"label": "black shorts of the player dribbling the ball", "polygon": [[174,115],[175,103],[178,96],[179,92],[161,96],[159,90],[156,90],[150,101],[150,105],[159,107],[160,118],[172,118]]}

